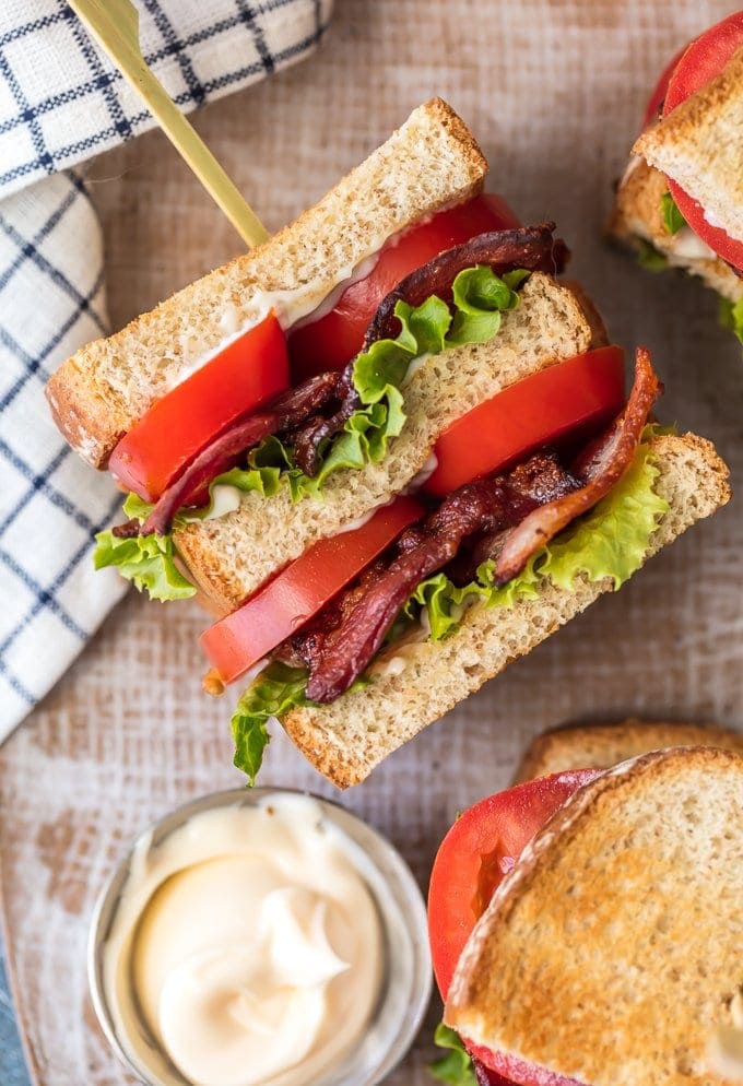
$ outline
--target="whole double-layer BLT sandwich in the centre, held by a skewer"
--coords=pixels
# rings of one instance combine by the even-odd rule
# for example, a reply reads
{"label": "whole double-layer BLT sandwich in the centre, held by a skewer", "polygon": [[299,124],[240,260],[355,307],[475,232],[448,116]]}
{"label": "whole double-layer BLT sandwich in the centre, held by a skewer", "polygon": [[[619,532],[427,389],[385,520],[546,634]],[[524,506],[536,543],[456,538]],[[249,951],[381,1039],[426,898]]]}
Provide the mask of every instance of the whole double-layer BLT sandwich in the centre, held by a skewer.
{"label": "whole double-layer BLT sandwich in the centre, held by a skewer", "polygon": [[278,717],[340,787],[729,497],[712,447],[561,285],[552,224],[483,196],[440,99],[267,245],[49,381],[128,489],[98,538],[155,599],[203,590],[204,685],[247,683],[236,765]]}

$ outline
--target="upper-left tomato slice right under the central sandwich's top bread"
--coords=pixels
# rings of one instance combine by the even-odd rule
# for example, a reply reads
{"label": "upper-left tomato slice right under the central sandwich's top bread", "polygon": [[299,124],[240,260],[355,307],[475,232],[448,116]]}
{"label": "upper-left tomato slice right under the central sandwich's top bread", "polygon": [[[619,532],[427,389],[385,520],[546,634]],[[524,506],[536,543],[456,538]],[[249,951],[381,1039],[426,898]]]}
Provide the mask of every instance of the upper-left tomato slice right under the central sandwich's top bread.
{"label": "upper-left tomato slice right under the central sandwich's top bread", "polygon": [[273,312],[157,400],[121,438],[108,467],[156,501],[209,442],[288,388],[286,338]]}

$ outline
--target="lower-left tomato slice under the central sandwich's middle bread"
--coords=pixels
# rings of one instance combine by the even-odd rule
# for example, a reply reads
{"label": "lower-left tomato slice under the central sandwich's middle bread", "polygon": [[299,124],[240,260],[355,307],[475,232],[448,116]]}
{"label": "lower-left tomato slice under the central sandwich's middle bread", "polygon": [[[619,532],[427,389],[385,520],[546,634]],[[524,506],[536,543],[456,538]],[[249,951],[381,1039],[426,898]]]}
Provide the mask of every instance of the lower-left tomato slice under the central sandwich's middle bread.
{"label": "lower-left tomato slice under the central sandwich's middle bread", "polygon": [[201,647],[224,683],[232,683],[296,633],[349,585],[423,506],[397,498],[361,528],[320,540],[225,618],[201,635]]}

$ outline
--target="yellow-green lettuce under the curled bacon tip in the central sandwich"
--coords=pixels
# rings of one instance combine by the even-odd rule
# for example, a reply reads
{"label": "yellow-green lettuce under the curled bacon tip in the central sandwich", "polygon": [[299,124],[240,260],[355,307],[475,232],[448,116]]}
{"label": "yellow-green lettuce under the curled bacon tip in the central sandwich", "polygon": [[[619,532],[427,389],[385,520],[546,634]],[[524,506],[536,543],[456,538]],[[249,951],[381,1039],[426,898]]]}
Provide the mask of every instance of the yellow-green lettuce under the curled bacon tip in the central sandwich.
{"label": "yellow-green lettuce under the curled bacon tip in the central sandwich", "polygon": [[436,574],[418,585],[405,605],[409,618],[426,607],[431,637],[451,634],[467,606],[510,607],[518,599],[535,599],[544,578],[571,589],[577,577],[590,581],[610,577],[616,590],[642,565],[658,521],[669,509],[653,484],[659,470],[647,444],[658,427],[646,427],[642,441],[627,472],[612,491],[585,517],[543,547],[524,570],[503,588],[493,582],[494,563],[485,562],[475,580],[457,588],[446,574]]}

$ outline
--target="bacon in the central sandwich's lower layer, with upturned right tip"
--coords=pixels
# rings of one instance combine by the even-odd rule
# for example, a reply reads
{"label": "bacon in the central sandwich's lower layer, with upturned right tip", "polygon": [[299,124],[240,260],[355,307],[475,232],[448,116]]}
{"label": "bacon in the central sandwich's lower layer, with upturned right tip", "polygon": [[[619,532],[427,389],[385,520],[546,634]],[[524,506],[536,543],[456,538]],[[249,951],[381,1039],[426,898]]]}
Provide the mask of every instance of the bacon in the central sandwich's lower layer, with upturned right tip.
{"label": "bacon in the central sandwich's lower layer, with upturned right tip", "polygon": [[624,412],[566,470],[552,452],[536,452],[508,475],[469,483],[424,521],[408,528],[393,550],[355,586],[278,650],[310,670],[307,696],[333,701],[370,663],[401,607],[432,574],[457,583],[496,558],[496,583],[516,577],[545,542],[591,509],[627,470],[661,391],[645,349]]}

